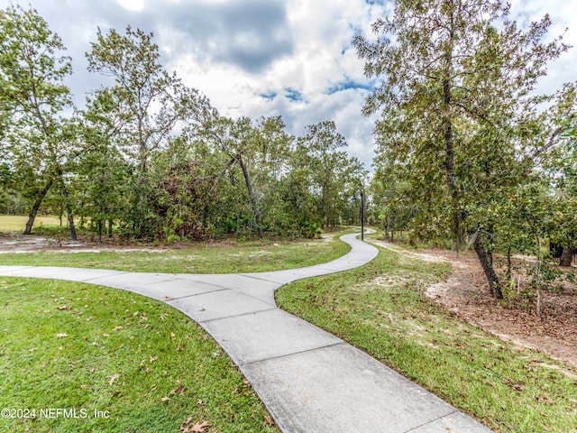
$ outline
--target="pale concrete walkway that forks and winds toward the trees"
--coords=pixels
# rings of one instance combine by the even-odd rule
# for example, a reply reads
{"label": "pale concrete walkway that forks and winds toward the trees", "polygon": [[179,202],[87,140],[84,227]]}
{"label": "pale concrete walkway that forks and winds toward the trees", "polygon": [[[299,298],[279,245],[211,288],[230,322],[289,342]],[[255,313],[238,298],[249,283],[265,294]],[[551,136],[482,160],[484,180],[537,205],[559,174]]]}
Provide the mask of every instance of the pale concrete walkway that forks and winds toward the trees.
{"label": "pale concrete walkway that forks and winds toward the trees", "polygon": [[274,291],[283,284],[374,259],[378,250],[355,236],[341,237],[352,250],[333,262],[279,272],[175,275],[0,266],[0,275],[130,290],[179,309],[222,345],[287,433],[490,432],[361,350],[277,308]]}

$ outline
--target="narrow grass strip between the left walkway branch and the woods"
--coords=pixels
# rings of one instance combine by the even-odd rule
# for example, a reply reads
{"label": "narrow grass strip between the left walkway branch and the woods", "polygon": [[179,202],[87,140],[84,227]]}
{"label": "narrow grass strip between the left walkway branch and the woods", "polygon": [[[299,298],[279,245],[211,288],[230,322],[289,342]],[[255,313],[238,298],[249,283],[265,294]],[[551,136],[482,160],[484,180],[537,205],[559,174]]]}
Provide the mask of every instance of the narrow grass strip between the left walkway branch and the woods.
{"label": "narrow grass strip between the left walkway branch and the woods", "polygon": [[[338,234],[341,235],[342,233]],[[195,244],[186,249],[100,253],[3,253],[1,264],[73,266],[132,272],[236,273],[267,272],[330,262],[350,250],[334,238],[301,242]]]}

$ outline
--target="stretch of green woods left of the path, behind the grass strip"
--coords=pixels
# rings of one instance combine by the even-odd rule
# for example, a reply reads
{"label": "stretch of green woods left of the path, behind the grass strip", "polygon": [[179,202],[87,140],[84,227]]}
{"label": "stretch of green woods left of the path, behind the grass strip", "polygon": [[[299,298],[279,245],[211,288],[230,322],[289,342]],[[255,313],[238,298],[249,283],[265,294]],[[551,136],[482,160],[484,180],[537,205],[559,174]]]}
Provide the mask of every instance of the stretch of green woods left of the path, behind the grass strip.
{"label": "stretch of green woods left of the path, behind the grass strip", "polygon": [[33,9],[0,11],[0,212],[68,217],[98,240],[306,236],[356,219],[366,172],[334,122],[285,131],[230,119],[160,64],[152,35],[96,33],[88,69],[114,78],[79,109],[60,38]]}

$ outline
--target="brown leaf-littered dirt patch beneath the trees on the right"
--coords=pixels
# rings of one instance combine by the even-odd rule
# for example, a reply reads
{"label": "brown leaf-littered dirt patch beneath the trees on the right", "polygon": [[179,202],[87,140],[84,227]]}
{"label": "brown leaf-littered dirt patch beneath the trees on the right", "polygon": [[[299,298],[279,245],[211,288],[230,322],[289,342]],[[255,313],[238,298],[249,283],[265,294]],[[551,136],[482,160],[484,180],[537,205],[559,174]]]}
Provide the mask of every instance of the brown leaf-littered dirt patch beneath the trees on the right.
{"label": "brown leaf-littered dirt patch beneath the trees on the right", "polygon": [[538,318],[534,303],[493,299],[481,264],[472,252],[421,250],[416,253],[381,241],[376,244],[427,262],[451,263],[451,276],[430,286],[427,296],[503,340],[536,349],[577,367],[577,287],[574,284],[565,284],[563,292],[544,291],[543,316]]}

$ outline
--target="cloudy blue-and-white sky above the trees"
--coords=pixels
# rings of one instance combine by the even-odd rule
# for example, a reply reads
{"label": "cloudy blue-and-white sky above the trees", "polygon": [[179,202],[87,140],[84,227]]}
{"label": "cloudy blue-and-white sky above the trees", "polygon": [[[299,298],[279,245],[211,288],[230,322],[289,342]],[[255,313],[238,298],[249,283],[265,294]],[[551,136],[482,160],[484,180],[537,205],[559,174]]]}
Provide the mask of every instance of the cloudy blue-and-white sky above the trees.
{"label": "cloudy blue-and-white sky above the trees", "polygon": [[[77,106],[104,80],[87,72],[85,53],[96,31],[130,25],[153,32],[161,63],[233,118],[282,115],[290,134],[307,124],[333,120],[348,152],[368,170],[374,156],[372,130],[378,115],[362,115],[374,82],[352,46],[359,32],[391,11],[389,0],[0,0],[32,5],[58,33],[72,57],[67,84]],[[540,84],[554,92],[577,80],[577,2],[509,0],[521,28],[546,13],[550,34],[574,45],[555,60]],[[565,32],[565,29],[566,30]]]}

